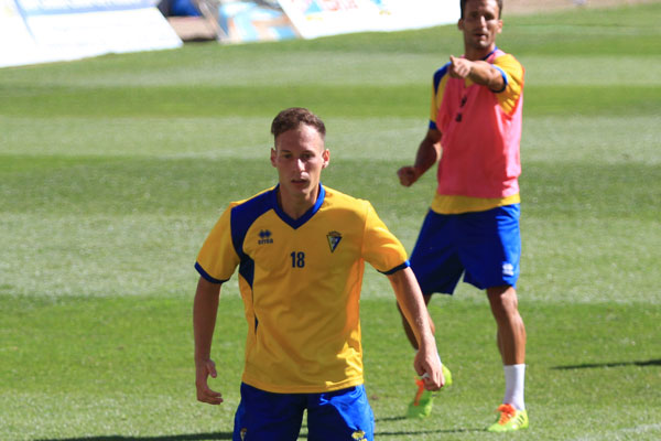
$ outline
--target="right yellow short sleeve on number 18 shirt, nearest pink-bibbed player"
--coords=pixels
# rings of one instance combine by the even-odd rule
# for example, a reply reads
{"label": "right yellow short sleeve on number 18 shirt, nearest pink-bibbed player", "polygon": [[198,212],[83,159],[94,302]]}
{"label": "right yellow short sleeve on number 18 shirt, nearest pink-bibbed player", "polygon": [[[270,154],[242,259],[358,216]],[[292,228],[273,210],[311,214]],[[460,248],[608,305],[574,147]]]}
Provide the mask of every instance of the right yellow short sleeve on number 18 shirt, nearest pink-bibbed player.
{"label": "right yellow short sleeve on number 18 shirt, nearest pink-bibbed player", "polygon": [[392,273],[409,266],[407,250],[390,233],[369,202],[365,222],[362,257],[379,272]]}

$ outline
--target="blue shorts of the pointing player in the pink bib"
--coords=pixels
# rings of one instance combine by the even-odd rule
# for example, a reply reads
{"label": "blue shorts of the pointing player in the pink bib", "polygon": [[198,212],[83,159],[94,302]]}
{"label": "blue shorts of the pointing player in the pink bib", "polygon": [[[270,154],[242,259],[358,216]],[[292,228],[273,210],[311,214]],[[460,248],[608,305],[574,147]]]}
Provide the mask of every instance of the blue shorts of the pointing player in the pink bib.
{"label": "blue shorts of the pointing player in the pink bib", "polygon": [[464,281],[479,289],[516,287],[519,215],[519,204],[449,215],[430,209],[411,254],[422,292],[452,294],[464,272]]}

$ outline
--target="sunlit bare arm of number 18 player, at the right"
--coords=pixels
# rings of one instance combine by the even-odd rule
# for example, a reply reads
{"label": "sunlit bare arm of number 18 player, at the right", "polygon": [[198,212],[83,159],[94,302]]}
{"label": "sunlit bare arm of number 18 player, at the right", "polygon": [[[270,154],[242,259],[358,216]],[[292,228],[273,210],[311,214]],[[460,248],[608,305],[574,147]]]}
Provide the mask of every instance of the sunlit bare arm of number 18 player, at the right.
{"label": "sunlit bare arm of number 18 player, at the right", "polygon": [[436,341],[432,333],[429,313],[411,268],[388,276],[401,311],[418,340],[419,351],[413,367],[424,380],[425,389],[438,390],[445,385]]}

